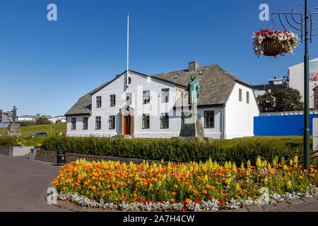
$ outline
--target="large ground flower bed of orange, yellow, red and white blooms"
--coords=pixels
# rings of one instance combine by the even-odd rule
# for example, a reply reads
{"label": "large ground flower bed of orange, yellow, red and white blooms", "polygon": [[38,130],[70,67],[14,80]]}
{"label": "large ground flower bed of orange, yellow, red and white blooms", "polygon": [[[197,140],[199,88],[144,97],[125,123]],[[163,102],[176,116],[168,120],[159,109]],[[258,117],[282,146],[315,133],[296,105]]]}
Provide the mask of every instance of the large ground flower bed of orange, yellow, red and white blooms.
{"label": "large ground flower bed of orange, yellow, red and white blooms", "polygon": [[61,167],[52,184],[60,199],[122,210],[218,210],[317,194],[317,169],[302,170],[297,157],[289,165],[277,162],[258,158],[256,167],[237,168],[211,160],[186,165],[77,160]]}

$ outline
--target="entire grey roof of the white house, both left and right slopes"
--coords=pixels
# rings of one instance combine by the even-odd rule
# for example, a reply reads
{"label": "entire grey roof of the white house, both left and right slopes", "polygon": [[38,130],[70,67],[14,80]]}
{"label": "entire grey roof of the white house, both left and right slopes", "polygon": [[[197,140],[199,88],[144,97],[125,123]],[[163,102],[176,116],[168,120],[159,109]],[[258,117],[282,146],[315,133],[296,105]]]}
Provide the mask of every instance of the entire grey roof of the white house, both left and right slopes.
{"label": "entire grey roof of the white house, both left and right slopes", "polygon": [[[124,73],[125,72],[126,71],[124,71]],[[201,72],[203,73],[201,74]],[[120,74],[119,76],[121,76],[122,74]],[[232,92],[235,82],[247,85],[249,88],[253,88],[252,85],[249,85],[248,83],[245,83],[245,81],[242,81],[240,78],[233,76],[231,73],[225,71],[225,69],[222,69],[217,64],[201,66],[196,71],[189,71],[188,69],[186,69],[182,71],[160,73],[153,75],[152,77],[157,78],[161,81],[167,81],[175,85],[179,85],[182,88],[186,88],[192,74],[196,76],[196,80],[200,82],[201,86],[201,94],[199,96],[198,105],[225,104],[228,100],[228,97],[230,97],[230,93]],[[119,76],[116,76],[112,81],[117,79]],[[112,83],[112,81],[100,85],[98,88],[95,88],[95,90],[92,90],[90,93],[87,93],[83,97],[79,98],[76,104],[73,105],[73,107],[71,107],[71,109],[69,109],[69,111],[66,112],[65,115],[90,114],[92,110],[92,95],[101,88],[104,88],[106,85]]]}

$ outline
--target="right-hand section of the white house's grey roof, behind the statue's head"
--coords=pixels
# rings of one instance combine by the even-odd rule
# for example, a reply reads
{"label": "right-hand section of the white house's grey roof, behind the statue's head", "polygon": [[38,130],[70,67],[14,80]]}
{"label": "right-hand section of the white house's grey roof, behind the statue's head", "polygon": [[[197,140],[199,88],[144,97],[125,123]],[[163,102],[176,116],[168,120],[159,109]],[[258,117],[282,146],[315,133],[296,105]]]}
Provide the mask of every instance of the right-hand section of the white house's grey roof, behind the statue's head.
{"label": "right-hand section of the white house's grey roof, behind the statue's head", "polygon": [[225,104],[232,93],[235,82],[247,85],[249,88],[253,88],[252,85],[249,85],[240,78],[233,76],[217,64],[201,66],[196,71],[189,71],[187,69],[182,71],[160,73],[154,75],[154,77],[163,78],[165,80],[174,81],[180,85],[187,86],[192,74],[196,76],[196,81],[199,81],[201,87],[198,105]]}

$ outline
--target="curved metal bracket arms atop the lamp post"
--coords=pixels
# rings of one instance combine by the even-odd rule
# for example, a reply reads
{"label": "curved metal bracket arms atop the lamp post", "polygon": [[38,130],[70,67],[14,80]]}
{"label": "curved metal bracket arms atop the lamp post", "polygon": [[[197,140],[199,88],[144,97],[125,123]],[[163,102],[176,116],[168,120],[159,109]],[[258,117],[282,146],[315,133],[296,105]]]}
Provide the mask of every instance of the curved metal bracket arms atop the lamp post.
{"label": "curved metal bracket arms atop the lamp post", "polygon": [[[297,30],[298,32],[300,32],[300,34],[296,33],[296,35],[298,35],[299,37],[301,37],[301,42],[303,40],[305,40],[304,37],[304,13],[295,13],[295,7],[302,5],[302,3],[296,4],[293,8],[292,11],[290,13],[271,13],[272,16],[274,15],[278,15],[279,17],[279,21],[281,22],[281,25],[283,26],[283,28],[285,30],[289,30],[283,23],[282,17],[285,16],[285,20],[287,21],[288,25],[290,25],[291,28],[294,28],[295,30]],[[313,12],[318,10],[318,7],[314,7],[312,9],[310,9],[310,13],[309,13],[309,17],[310,17],[310,42],[312,42],[312,37],[318,35],[318,33],[314,33],[315,30],[318,29],[317,27],[314,27],[314,25],[316,23],[318,23],[318,20],[314,21],[313,20],[313,16],[317,15],[318,12]],[[288,18],[289,16],[289,18]],[[290,20],[290,17],[293,21]],[[296,18],[297,17],[297,18]],[[299,20],[300,18],[300,20]],[[293,22],[295,22],[295,24],[292,24]]]}

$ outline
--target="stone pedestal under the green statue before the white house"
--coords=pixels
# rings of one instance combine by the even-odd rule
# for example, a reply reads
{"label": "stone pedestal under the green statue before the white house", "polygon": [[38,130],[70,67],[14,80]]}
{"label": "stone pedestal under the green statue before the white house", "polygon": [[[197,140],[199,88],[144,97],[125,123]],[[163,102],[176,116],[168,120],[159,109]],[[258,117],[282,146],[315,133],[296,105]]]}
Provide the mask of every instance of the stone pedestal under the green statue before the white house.
{"label": "stone pedestal under the green statue before the white house", "polygon": [[204,128],[202,126],[201,114],[192,114],[190,117],[182,117],[183,124],[181,124],[180,135],[182,140],[188,141],[193,138],[204,140]]}

